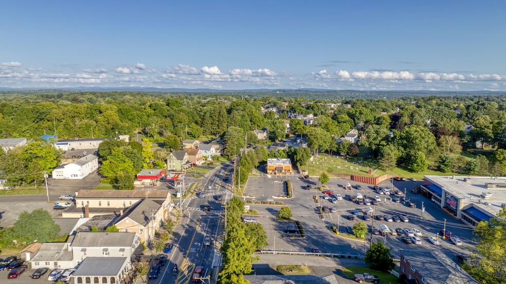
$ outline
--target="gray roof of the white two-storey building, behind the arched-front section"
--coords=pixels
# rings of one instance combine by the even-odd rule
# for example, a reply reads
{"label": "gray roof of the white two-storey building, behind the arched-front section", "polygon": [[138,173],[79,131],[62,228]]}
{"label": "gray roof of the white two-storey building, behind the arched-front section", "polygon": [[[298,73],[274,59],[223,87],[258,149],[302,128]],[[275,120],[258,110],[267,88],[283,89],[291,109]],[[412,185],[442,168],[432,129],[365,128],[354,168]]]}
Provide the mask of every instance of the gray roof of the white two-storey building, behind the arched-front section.
{"label": "gray roof of the white two-storey building, behind the arched-front section", "polygon": [[76,234],[72,247],[79,248],[107,248],[132,247],[136,240],[135,233],[128,232],[79,232]]}

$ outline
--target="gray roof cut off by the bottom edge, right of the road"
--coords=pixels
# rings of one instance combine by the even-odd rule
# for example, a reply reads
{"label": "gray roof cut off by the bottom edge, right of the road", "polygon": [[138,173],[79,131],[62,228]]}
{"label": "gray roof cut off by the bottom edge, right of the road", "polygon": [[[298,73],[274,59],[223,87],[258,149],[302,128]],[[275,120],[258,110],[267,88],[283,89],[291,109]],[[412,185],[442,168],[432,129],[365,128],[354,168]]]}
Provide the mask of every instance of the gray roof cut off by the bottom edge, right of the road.
{"label": "gray roof cut off by the bottom edge, right of the road", "polygon": [[251,284],[338,284],[334,275],[244,275]]}

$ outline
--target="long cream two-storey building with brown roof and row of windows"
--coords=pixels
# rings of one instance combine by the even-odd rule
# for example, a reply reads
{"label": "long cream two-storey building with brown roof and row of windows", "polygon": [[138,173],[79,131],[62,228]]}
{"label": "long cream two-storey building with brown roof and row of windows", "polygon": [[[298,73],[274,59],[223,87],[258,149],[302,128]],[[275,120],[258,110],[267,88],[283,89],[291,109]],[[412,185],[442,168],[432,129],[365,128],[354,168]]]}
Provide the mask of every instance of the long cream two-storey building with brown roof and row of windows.
{"label": "long cream two-storey building with brown roof and row of windows", "polygon": [[[80,190],[76,194],[76,205],[62,212],[64,218],[91,218],[97,215],[121,215],[126,207],[149,198],[160,204],[164,211],[170,212],[173,203],[168,191],[145,189],[132,191],[96,191]],[[164,213],[166,214],[166,212]]]}

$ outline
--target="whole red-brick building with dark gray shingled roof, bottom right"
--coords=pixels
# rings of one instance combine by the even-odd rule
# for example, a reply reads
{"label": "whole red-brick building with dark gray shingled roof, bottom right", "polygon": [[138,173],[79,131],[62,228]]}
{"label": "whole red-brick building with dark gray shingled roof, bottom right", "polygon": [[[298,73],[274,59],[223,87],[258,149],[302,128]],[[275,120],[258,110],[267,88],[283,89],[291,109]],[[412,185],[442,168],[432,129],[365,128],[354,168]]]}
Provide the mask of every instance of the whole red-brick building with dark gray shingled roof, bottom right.
{"label": "whole red-brick building with dark gray shingled roof, bottom right", "polygon": [[439,250],[401,250],[400,257],[400,283],[478,284]]}

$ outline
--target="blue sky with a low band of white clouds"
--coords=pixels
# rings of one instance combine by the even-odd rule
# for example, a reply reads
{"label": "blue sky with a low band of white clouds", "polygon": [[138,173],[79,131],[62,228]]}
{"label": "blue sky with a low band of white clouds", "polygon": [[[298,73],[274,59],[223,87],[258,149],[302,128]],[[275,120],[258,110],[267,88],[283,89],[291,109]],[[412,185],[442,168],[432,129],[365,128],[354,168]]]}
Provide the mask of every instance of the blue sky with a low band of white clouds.
{"label": "blue sky with a low band of white clouds", "polygon": [[11,1],[0,87],[506,91],[504,1]]}

